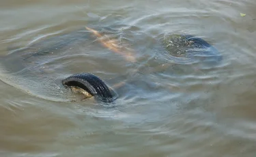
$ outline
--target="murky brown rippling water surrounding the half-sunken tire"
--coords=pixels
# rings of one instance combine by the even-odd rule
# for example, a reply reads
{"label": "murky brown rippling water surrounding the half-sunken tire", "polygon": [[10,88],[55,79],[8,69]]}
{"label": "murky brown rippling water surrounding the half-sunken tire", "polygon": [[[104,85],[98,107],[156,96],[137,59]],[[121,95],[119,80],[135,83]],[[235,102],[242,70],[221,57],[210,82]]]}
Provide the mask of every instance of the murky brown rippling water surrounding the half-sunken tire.
{"label": "murky brown rippling water surrounding the half-sunken tire", "polygon": [[[253,0],[1,1],[0,155],[256,156],[255,7]],[[85,26],[134,50],[137,61],[104,48]],[[222,61],[173,64],[158,41],[177,32],[208,41]],[[40,42],[63,33],[79,40],[51,50],[61,38]],[[16,51],[37,42],[51,53]],[[60,80],[77,72],[126,84],[111,107],[68,102],[74,96]]]}

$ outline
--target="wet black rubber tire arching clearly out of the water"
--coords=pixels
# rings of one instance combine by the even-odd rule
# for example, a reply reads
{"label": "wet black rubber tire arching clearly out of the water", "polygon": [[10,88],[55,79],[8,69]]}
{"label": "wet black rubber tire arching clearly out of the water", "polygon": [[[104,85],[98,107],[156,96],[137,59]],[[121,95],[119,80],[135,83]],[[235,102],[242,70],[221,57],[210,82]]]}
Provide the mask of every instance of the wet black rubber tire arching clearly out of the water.
{"label": "wet black rubber tire arching clearly out of the water", "polygon": [[89,73],[73,74],[62,80],[65,87],[80,87],[102,102],[113,102],[111,89],[97,76]]}

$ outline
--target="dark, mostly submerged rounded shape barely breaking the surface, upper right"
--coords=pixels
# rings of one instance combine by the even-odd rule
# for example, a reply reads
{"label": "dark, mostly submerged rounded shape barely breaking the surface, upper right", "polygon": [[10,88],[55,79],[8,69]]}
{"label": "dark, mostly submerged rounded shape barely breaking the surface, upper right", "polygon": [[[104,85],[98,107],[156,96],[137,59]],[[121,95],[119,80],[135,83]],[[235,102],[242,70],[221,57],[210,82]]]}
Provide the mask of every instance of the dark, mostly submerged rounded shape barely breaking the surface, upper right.
{"label": "dark, mostly submerged rounded shape barely breaking the surface, upper right", "polygon": [[193,35],[171,34],[162,40],[175,63],[218,63],[223,59],[214,46]]}

